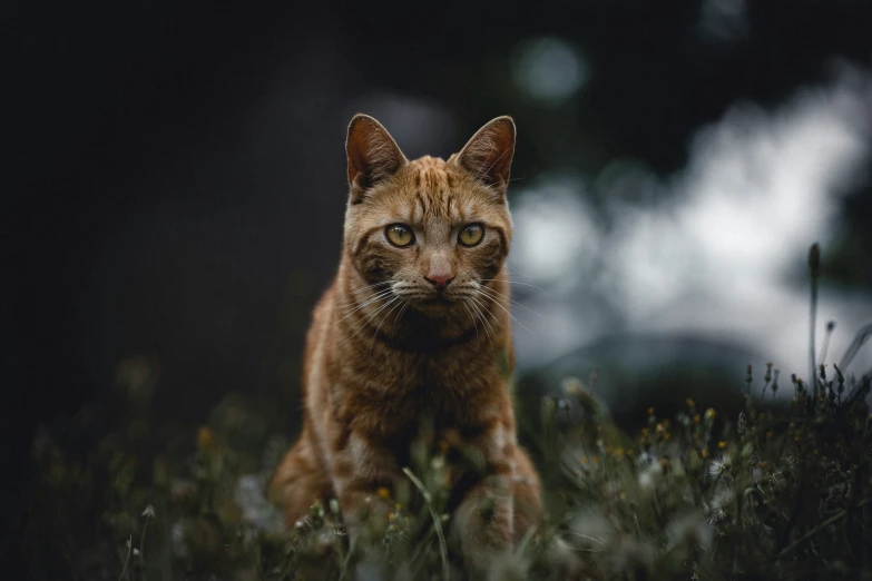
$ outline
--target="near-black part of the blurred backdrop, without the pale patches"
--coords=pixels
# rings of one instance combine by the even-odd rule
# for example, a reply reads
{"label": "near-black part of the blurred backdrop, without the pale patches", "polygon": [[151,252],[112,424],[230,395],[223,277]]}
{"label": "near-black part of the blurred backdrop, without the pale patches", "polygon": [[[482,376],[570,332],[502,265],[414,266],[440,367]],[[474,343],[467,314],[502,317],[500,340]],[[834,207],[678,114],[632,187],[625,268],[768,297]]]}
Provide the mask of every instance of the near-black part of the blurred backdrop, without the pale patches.
{"label": "near-black part of the blurred backdrop, without the pale patches", "polygon": [[[405,140],[389,125],[409,157],[447,157],[511,114],[513,176],[595,174],[617,157],[667,175],[729,104],[777,104],[826,81],[834,59],[870,66],[870,2],[726,2],[745,14],[727,40],[699,26],[717,4],[8,9],[6,535],[21,526],[35,426],[102,397],[125,357],[160,362],[155,410],[174,421],[203,421],[228,391],[292,405],[308,309],[340,252],[345,126],[368,105],[378,117],[378,96],[451,120]],[[517,47],[541,36],[590,65],[559,106],[511,82]],[[845,199],[847,266],[831,275],[870,288],[869,180]]]}

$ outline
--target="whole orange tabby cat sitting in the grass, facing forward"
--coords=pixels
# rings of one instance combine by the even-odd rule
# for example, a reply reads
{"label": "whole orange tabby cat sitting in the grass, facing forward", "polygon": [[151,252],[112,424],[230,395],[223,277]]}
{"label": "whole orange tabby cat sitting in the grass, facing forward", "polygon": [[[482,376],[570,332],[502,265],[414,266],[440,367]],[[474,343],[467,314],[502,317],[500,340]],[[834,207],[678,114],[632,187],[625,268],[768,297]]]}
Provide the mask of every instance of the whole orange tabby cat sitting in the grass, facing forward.
{"label": "whole orange tabby cat sitting in the grass, facing forward", "polygon": [[429,417],[438,437],[459,437],[483,460],[451,524],[467,567],[483,570],[541,511],[506,380],[515,124],[493,119],[448,161],[409,161],[357,115],[346,151],[342,260],[306,337],[303,431],[271,495],[288,525],[336,498],[354,535],[365,499],[405,480]]}

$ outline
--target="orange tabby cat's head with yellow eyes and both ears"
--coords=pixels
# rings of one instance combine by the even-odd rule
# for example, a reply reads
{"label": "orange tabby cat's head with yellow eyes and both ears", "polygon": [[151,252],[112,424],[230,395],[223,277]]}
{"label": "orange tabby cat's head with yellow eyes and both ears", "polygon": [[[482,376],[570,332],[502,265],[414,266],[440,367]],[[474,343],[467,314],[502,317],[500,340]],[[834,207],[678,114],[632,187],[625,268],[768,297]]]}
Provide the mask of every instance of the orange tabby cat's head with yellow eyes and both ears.
{"label": "orange tabby cat's head with yellow eyes and both ears", "polygon": [[346,151],[344,248],[363,280],[435,315],[481,299],[511,243],[512,119],[484,125],[448,161],[410,161],[379,121],[357,115]]}

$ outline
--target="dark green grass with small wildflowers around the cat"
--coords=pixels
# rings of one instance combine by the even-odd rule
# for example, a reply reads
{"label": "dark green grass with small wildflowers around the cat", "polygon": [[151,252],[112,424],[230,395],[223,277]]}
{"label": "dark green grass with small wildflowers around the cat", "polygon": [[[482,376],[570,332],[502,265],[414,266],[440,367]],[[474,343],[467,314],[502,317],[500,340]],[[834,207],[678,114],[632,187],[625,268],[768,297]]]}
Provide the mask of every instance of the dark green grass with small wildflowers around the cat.
{"label": "dark green grass with small wildflowers around the cat", "polygon": [[[567,378],[525,434],[546,519],[493,578],[560,579],[571,559],[592,580],[872,579],[872,378],[845,371],[872,326],[827,364],[832,331],[820,354],[812,343],[813,377],[748,365],[735,417],[687,400],[666,415],[649,408],[626,433],[598,402],[596,375]],[[124,370],[125,403],[91,444],[74,444],[87,413],[33,443],[22,548],[36,579],[462,578],[443,533],[448,447],[431,434],[413,445],[408,486],[374,491],[392,510],[373,512],[355,545],[335,501],[285,532],[263,489],[290,442],[264,410],[231,395],[208,425],[160,432],[148,363]]]}

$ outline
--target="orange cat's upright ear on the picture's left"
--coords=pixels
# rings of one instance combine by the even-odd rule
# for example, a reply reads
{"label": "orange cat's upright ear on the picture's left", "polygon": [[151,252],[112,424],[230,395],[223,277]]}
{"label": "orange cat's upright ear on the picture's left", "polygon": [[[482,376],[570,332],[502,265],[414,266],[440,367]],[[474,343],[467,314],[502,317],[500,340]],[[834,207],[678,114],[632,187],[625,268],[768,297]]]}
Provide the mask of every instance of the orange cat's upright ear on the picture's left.
{"label": "orange cat's upright ear on the picture's left", "polygon": [[357,114],[345,140],[349,156],[349,187],[352,203],[362,201],[369,188],[392,176],[408,159],[391,134],[369,115]]}

